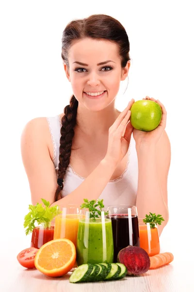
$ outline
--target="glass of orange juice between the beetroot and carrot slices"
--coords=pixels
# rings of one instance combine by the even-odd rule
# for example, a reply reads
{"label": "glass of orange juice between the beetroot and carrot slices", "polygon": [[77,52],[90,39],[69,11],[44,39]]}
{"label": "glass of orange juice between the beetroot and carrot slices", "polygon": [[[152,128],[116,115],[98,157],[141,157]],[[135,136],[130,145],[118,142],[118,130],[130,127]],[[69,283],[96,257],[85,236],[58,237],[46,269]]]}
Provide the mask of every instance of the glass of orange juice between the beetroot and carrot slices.
{"label": "glass of orange juice between the beetroot and carrot slices", "polygon": [[160,254],[160,241],[158,227],[155,222],[145,223],[142,218],[138,218],[140,247],[148,256]]}

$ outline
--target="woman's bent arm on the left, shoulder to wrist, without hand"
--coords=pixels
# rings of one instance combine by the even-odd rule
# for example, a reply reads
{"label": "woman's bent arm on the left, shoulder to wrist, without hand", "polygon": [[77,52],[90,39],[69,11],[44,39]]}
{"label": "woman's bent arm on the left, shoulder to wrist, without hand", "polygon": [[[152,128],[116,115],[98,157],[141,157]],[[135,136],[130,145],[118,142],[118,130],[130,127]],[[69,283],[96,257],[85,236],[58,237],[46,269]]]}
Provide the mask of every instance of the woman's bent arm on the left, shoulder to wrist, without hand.
{"label": "woman's bent arm on the left, shoulder to wrist, without hand", "polygon": [[84,198],[97,200],[109,182],[116,164],[112,159],[104,158],[81,185],[63,199],[54,202],[54,193],[58,186],[54,164],[46,143],[48,125],[45,118],[36,118],[28,122],[21,136],[21,154],[28,176],[32,204],[46,199],[51,205],[64,207],[68,203],[81,205]]}

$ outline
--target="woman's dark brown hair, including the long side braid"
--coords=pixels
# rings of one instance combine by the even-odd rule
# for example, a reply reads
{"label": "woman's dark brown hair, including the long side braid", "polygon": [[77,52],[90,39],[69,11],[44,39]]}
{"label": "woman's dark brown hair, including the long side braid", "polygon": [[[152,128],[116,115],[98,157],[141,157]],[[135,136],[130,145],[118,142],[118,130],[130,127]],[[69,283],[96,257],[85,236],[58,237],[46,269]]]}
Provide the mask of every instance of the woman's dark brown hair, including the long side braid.
{"label": "woman's dark brown hair, including the long side braid", "polygon": [[[121,67],[125,68],[129,57],[129,39],[125,28],[115,18],[105,14],[94,14],[88,18],[76,19],[67,24],[62,37],[62,59],[69,71],[68,51],[70,47],[83,38],[105,39],[115,43],[118,46],[118,53],[121,59]],[[76,116],[78,101],[73,95],[70,104],[64,109],[62,118],[60,155],[58,178],[64,179],[66,169],[70,162],[72,150],[72,141],[74,137],[74,127],[76,126]],[[61,199],[62,186],[58,186],[55,192],[55,201]]]}

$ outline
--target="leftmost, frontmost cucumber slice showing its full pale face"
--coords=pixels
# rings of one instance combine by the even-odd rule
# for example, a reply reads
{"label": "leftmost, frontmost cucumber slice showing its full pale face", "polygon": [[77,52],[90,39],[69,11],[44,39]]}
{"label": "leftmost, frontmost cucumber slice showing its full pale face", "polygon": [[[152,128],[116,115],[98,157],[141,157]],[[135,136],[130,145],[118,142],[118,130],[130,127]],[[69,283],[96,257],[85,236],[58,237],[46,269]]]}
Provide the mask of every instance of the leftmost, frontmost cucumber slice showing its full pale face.
{"label": "leftmost, frontmost cucumber slice showing its full pale face", "polygon": [[93,270],[93,264],[83,264],[79,266],[69,278],[70,283],[84,282],[85,279],[91,274]]}

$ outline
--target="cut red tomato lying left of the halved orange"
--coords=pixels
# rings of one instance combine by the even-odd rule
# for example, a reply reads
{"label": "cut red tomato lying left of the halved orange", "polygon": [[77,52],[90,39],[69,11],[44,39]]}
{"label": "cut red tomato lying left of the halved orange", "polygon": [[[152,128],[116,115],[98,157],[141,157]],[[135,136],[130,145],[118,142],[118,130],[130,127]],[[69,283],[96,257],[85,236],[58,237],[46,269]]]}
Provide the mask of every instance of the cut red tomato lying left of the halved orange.
{"label": "cut red tomato lying left of the halved orange", "polygon": [[25,268],[32,269],[35,268],[34,257],[38,251],[38,248],[30,247],[26,248],[17,255],[17,260]]}

